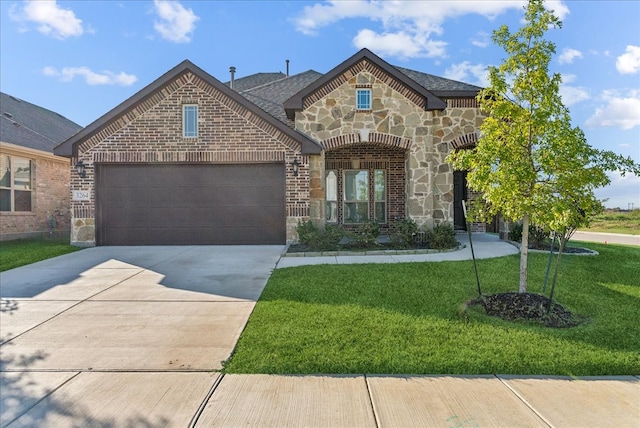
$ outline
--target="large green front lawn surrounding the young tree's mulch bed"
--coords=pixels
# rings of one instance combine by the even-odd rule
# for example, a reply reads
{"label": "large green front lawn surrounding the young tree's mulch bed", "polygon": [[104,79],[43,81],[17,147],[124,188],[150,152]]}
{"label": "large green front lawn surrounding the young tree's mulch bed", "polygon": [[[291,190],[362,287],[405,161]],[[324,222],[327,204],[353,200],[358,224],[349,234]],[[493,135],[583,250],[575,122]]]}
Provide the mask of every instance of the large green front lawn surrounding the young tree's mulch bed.
{"label": "large green front lawn surrounding the young tree's mulch bed", "polygon": [[[590,322],[569,329],[465,310],[472,262],[276,270],[229,373],[640,374],[640,248],[565,256],[556,296]],[[530,254],[529,291],[547,256]],[[482,260],[485,294],[516,291],[518,256]]]}

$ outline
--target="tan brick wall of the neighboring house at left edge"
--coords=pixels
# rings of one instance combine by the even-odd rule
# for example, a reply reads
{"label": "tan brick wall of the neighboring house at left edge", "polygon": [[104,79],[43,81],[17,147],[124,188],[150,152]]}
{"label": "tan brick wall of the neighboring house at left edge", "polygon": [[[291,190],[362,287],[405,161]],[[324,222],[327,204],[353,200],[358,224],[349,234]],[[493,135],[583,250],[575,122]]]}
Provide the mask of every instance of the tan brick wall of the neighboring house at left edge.
{"label": "tan brick wall of the neighboring house at left edge", "polygon": [[0,241],[69,236],[69,159],[9,144],[2,154],[32,162],[31,212],[0,212]]}

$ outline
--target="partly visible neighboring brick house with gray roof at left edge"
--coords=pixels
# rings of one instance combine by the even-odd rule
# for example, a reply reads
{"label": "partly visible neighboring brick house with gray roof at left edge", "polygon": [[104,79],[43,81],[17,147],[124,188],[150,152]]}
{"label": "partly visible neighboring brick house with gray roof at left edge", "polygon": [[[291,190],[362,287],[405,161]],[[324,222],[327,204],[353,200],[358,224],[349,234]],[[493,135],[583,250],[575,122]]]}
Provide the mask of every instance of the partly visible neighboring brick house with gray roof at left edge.
{"label": "partly visible neighboring brick house with gray roof at left edge", "polygon": [[69,236],[69,159],[53,148],[81,128],[0,93],[0,240]]}

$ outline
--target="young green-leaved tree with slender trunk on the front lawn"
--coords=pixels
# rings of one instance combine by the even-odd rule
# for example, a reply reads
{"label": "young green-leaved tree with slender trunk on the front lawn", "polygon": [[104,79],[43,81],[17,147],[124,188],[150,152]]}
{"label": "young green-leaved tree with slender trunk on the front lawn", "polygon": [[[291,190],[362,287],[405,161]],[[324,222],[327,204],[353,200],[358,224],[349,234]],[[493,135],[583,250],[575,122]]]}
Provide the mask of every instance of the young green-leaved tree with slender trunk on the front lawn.
{"label": "young green-leaved tree with slender trunk on the front lawn", "polygon": [[530,0],[522,28],[494,31],[493,42],[508,56],[489,67],[490,85],[478,94],[487,115],[479,141],[447,159],[454,169],[467,170],[469,187],[482,194],[483,203],[472,210],[476,219],[500,212],[522,220],[521,293],[527,291],[529,224],[551,228],[576,195],[595,200],[593,189],[609,183],[607,170],[640,173],[630,158],[592,148],[571,126],[559,94],[561,77],[549,72],[555,45],[544,38],[549,28],[561,27],[542,0]]}

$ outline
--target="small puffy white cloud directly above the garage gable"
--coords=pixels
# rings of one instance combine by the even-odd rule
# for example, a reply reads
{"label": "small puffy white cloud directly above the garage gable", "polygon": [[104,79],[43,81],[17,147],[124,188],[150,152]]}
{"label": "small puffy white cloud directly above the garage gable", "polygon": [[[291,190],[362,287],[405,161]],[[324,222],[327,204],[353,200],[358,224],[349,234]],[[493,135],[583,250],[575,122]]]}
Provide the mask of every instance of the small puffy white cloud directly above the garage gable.
{"label": "small puffy white cloud directly above the garage gable", "polygon": [[154,0],[153,3],[158,15],[153,28],[162,38],[174,43],[191,41],[191,33],[195,30],[196,22],[200,18],[191,9],[185,9],[177,1]]}

